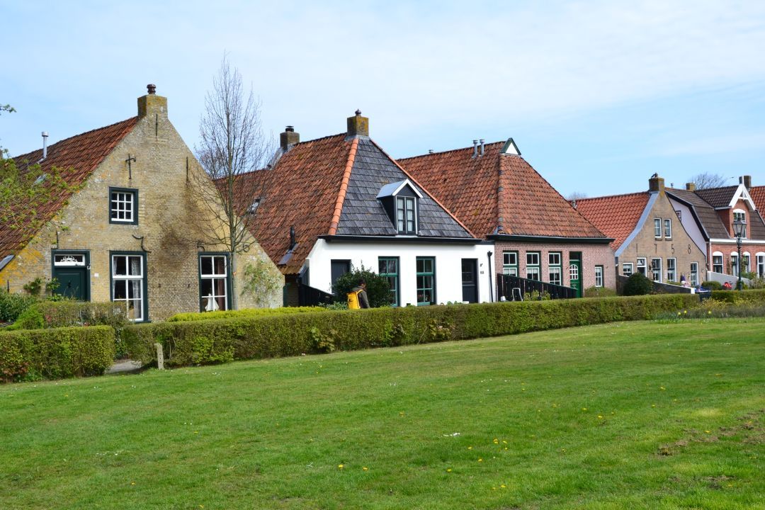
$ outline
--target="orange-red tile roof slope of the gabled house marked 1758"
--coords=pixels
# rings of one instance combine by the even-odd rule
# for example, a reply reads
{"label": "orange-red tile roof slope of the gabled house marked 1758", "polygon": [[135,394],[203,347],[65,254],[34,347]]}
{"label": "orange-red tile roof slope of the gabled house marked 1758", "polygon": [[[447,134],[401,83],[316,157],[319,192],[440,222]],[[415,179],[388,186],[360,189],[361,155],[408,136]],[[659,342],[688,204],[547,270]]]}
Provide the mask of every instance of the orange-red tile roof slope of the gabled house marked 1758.
{"label": "orange-red tile roof slope of the gabled house marked 1758", "polygon": [[606,236],[613,237],[611,248],[619,249],[637,226],[648,204],[649,193],[629,193],[610,197],[577,200],[577,210],[584,214]]}

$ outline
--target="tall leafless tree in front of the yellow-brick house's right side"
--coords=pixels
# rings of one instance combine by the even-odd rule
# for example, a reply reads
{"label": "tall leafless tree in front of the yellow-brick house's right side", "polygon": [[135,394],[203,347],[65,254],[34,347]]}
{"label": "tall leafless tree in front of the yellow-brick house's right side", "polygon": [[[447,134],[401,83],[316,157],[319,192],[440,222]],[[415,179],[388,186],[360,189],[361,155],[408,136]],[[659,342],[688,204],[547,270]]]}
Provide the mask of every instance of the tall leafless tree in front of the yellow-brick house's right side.
{"label": "tall leafless tree in front of the yellow-brick house's right side", "polygon": [[[258,200],[265,193],[260,174],[274,154],[274,144],[263,133],[261,102],[246,92],[242,75],[223,55],[220,69],[213,76],[213,89],[207,92],[200,119],[197,158],[207,176],[197,176],[196,190],[219,229],[203,229],[206,241],[225,245],[232,274],[236,274],[238,253],[249,251],[250,223],[255,219]],[[232,278],[232,306],[238,308],[236,279]]]}

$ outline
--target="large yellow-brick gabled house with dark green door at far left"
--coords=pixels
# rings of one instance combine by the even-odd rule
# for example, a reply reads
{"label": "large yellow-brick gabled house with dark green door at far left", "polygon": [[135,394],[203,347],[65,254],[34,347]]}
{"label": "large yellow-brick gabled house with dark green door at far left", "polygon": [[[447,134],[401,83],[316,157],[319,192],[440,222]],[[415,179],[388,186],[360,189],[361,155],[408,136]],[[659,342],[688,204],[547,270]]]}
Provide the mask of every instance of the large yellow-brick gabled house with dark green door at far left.
{"label": "large yellow-brick gabled house with dark green door at far left", "polygon": [[[232,306],[241,277],[225,246],[207,241],[205,232],[221,229],[210,214],[216,204],[192,186],[212,181],[153,85],[138,98],[136,117],[14,160],[22,169],[39,161],[46,173],[34,185],[45,186],[59,168],[67,187],[37,210],[39,229],[0,224],[0,282],[8,291],[55,278],[58,294],[119,303],[137,322]],[[238,267],[268,261],[267,271],[281,278],[255,239],[249,243],[249,252],[234,255]],[[281,292],[273,294],[236,297],[239,307],[278,306]]]}

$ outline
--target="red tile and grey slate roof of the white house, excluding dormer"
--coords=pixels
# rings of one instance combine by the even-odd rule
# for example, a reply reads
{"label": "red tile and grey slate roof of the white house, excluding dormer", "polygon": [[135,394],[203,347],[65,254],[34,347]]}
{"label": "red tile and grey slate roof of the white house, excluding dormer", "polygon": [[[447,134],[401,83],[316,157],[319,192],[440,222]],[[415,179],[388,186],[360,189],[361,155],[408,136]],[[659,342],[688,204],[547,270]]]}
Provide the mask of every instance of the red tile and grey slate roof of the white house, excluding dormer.
{"label": "red tile and grey slate roof of the white house, excluding dormer", "polygon": [[[298,274],[318,236],[395,236],[376,194],[406,178],[419,187],[373,141],[342,133],[298,143],[274,167],[239,177],[237,206],[246,210],[256,198],[244,197],[244,190],[261,190],[252,234],[284,274]],[[420,236],[472,237],[421,191]]]}

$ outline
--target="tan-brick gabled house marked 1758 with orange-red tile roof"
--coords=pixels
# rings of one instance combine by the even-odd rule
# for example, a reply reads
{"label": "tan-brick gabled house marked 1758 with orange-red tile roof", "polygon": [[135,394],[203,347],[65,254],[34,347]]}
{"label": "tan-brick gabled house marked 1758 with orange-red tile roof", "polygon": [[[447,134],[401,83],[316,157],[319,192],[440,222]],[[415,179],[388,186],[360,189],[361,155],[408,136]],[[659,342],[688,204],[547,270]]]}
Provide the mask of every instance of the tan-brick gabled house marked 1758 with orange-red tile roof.
{"label": "tan-brick gabled house marked 1758 with orange-red tile roof", "polygon": [[667,196],[664,179],[648,180],[648,191],[577,200],[577,210],[614,238],[618,274],[645,274],[653,281],[701,282],[704,252],[683,227]]}

